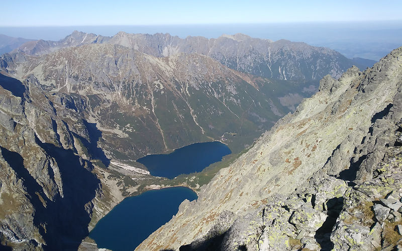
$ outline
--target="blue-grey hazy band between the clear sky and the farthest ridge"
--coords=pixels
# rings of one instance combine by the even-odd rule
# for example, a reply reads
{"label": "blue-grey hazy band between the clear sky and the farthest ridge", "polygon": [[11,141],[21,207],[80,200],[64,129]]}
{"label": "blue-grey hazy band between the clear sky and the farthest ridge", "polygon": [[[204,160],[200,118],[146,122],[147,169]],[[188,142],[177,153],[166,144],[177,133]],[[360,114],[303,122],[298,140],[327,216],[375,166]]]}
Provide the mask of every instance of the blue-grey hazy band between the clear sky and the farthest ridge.
{"label": "blue-grey hazy band between the clear sky and the farthest ridge", "polygon": [[276,24],[220,24],[166,26],[64,26],[0,27],[0,34],[27,39],[58,41],[78,30],[103,36],[127,33],[170,33],[173,36],[217,38],[222,34],[243,33],[251,37],[302,41],[341,52],[348,58],[379,60],[402,46],[402,21],[321,22]]}

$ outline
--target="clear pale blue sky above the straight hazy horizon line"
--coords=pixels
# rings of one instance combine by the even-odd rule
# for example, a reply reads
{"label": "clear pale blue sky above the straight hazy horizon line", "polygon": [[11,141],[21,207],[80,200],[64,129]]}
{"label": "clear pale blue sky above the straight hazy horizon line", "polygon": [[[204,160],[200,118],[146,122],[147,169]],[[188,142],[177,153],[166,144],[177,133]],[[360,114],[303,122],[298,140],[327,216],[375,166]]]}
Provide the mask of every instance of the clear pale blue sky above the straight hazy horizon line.
{"label": "clear pale blue sky above the straight hazy horizon line", "polygon": [[401,0],[3,1],[0,26],[402,20]]}

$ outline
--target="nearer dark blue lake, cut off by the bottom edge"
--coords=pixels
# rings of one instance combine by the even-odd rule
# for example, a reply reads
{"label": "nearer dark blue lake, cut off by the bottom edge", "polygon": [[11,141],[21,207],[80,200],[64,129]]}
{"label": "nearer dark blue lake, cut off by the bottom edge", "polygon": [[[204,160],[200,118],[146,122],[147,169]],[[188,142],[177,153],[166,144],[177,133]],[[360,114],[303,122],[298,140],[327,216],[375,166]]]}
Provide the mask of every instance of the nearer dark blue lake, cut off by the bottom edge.
{"label": "nearer dark blue lake, cut off by the bottom edge", "polygon": [[150,190],[120,202],[89,233],[98,248],[133,251],[177,213],[180,203],[197,195],[185,187]]}

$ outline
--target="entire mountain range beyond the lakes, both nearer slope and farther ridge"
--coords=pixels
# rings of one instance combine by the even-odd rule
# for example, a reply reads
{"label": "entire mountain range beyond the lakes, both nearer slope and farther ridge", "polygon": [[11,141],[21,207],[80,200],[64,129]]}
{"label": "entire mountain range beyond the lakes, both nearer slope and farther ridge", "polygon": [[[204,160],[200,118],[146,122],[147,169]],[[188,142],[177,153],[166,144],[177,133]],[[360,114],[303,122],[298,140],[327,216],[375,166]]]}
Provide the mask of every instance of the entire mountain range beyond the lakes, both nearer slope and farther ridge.
{"label": "entire mountain range beyond the lakes, both nearer slope and farther ridge", "polygon": [[227,132],[243,136],[229,143],[240,152],[311,95],[318,79],[339,77],[351,62],[326,48],[242,34],[208,40],[73,32],[57,42],[27,42],[4,54],[0,66],[20,80],[32,74],[52,95],[67,94],[69,108],[83,104],[108,155],[133,160]]}

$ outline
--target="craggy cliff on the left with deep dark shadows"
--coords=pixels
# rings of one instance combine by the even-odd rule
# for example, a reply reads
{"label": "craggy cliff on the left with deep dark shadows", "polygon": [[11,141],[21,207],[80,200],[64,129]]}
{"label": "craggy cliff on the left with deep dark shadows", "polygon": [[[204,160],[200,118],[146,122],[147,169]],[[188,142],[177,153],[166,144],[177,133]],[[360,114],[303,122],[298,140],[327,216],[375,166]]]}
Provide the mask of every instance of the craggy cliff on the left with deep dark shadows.
{"label": "craggy cliff on the left with deep dark shadows", "polygon": [[76,249],[102,194],[94,166],[75,147],[92,141],[87,123],[67,110],[61,120],[35,78],[0,81],[1,247]]}

